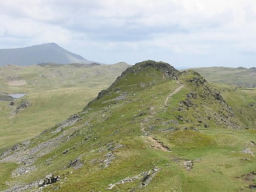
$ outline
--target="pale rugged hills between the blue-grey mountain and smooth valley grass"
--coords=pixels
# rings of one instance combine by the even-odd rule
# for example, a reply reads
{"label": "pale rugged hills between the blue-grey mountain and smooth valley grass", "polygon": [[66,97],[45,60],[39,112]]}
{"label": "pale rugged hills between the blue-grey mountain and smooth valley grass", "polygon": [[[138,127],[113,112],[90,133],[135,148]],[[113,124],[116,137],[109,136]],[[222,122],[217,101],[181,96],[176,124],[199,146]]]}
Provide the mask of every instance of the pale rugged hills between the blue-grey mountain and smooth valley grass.
{"label": "pale rugged hills between the blue-grey mountain and smooth valley grass", "polygon": [[0,67],[1,91],[8,93],[26,93],[66,87],[94,87],[100,86],[102,80],[109,84],[129,65],[116,63],[113,65],[99,65],[98,63],[73,63],[60,65],[44,63],[31,66],[5,65]]}

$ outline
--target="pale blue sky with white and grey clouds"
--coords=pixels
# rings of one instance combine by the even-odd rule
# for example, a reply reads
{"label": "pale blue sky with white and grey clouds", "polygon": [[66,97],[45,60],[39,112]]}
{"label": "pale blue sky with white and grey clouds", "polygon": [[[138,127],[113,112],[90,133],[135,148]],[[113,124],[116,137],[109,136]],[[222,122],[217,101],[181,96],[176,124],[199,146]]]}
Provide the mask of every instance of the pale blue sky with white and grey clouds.
{"label": "pale blue sky with white and grey clouds", "polygon": [[256,66],[255,0],[0,1],[0,49],[54,42],[101,63]]}

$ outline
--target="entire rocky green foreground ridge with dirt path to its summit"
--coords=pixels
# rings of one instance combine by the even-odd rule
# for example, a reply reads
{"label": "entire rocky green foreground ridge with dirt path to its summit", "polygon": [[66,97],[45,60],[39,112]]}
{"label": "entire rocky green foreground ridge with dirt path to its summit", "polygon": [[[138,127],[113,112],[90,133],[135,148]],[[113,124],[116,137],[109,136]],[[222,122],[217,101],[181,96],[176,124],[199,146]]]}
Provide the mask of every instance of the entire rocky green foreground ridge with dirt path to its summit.
{"label": "entire rocky green foreground ridge with dirt path to its summit", "polygon": [[251,191],[255,102],[255,90],[137,63],[81,112],[2,153],[0,190]]}

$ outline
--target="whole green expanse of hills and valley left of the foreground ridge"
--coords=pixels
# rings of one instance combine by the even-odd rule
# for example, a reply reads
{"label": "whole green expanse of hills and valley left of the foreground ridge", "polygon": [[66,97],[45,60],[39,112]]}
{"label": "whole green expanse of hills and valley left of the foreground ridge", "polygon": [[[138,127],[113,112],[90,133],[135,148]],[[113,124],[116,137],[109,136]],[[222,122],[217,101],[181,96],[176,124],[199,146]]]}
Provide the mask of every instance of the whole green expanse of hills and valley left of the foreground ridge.
{"label": "whole green expanse of hills and valley left of the foreground ridge", "polygon": [[[0,68],[0,151],[81,111],[129,65],[7,65]],[[26,93],[13,100],[8,94]],[[26,107],[21,107],[27,103]],[[20,109],[19,109],[20,108]]]}

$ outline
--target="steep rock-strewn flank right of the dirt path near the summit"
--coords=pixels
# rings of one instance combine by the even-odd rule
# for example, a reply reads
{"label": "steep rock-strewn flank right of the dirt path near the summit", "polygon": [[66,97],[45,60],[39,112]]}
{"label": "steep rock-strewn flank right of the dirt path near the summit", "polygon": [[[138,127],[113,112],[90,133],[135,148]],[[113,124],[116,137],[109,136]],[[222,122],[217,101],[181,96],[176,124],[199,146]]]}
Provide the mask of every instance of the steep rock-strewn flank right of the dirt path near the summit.
{"label": "steep rock-strewn flank right of the dirt path near the summit", "polygon": [[[186,76],[186,79],[182,79],[186,80],[186,84],[191,86],[191,90],[187,93],[185,99],[179,101],[179,108],[176,108],[180,112],[177,115],[179,121],[205,128],[213,124],[231,129],[243,129],[246,127],[238,121],[232,107],[227,104],[221,93],[210,87],[200,74],[195,71],[183,73],[191,76],[190,78]],[[183,76],[183,73],[181,76]],[[188,118],[188,111],[193,114],[193,118]]]}

